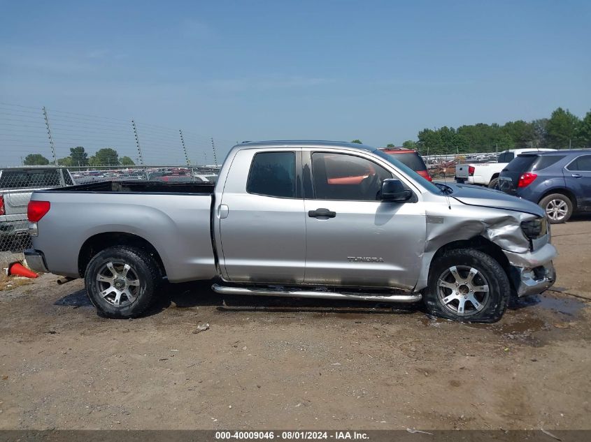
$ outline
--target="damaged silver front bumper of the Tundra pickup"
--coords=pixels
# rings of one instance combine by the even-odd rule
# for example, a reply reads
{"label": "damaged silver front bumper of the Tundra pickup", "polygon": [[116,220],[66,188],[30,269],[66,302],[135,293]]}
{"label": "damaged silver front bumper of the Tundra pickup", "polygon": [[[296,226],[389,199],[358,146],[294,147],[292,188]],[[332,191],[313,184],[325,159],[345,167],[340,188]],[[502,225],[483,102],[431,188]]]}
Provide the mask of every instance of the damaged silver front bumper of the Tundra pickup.
{"label": "damaged silver front bumper of the Tundra pickup", "polygon": [[509,277],[518,296],[537,295],[553,286],[556,271],[552,260],[558,256],[555,246],[548,243],[533,252],[504,253],[511,264]]}

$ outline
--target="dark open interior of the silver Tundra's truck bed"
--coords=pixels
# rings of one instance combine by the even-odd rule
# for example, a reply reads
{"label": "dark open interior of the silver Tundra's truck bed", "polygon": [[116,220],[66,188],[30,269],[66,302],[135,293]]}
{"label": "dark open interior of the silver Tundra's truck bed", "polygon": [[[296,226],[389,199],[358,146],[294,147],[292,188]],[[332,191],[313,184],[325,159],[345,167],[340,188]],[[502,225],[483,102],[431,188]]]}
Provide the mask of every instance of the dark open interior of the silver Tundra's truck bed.
{"label": "dark open interior of the silver Tundra's truck bed", "polygon": [[48,192],[92,193],[193,193],[213,194],[215,183],[159,181],[102,181],[49,189]]}

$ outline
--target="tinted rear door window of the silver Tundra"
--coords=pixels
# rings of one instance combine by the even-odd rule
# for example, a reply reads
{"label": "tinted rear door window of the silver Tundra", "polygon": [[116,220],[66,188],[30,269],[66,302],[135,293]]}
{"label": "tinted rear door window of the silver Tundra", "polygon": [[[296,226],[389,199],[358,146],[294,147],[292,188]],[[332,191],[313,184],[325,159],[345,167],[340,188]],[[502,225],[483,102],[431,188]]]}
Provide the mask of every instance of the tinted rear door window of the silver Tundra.
{"label": "tinted rear door window of the silver Tundra", "polygon": [[295,198],[295,153],[259,152],[252,159],[246,191],[278,198]]}

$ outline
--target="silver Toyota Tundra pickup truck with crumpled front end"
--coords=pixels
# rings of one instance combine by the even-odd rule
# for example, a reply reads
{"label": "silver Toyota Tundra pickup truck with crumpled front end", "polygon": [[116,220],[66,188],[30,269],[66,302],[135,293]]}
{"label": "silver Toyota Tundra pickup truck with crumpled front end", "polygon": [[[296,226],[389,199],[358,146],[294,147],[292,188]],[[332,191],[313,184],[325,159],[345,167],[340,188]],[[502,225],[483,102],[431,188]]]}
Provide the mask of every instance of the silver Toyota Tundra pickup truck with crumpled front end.
{"label": "silver Toyota Tundra pickup truck with crumpled front end", "polygon": [[222,294],[424,302],[492,322],[555,280],[543,210],[499,191],[432,184],[365,145],[244,142],[206,183],[102,182],[36,191],[38,271],[85,278],[101,314],[143,314],[171,283]]}

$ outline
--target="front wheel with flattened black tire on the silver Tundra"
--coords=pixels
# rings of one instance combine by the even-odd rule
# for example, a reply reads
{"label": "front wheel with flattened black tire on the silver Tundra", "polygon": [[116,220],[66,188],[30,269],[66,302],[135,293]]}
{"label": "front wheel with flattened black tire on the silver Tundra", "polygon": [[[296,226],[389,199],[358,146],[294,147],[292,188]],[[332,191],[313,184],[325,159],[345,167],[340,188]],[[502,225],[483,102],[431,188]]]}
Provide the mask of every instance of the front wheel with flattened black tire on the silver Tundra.
{"label": "front wheel with flattened black tire on the silver Tundra", "polygon": [[[453,276],[453,267],[459,279]],[[443,287],[443,284],[452,287]],[[473,290],[485,286],[487,290]],[[455,249],[444,252],[432,262],[423,299],[427,311],[434,316],[494,323],[503,316],[510,296],[511,284],[497,260],[478,250]],[[462,305],[464,309],[460,309]]]}

